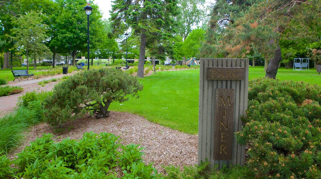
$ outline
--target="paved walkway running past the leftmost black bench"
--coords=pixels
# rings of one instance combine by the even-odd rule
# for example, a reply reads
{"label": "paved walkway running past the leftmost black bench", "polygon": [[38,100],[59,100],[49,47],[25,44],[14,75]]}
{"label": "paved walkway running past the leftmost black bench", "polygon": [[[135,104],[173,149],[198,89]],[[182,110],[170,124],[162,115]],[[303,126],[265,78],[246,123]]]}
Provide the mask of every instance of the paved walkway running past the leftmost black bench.
{"label": "paved walkway running past the leftmost black bench", "polygon": [[[32,84],[32,83],[38,83],[39,81],[50,80],[52,78],[61,78],[64,75],[66,75],[66,74],[59,74],[59,75],[50,76],[47,78],[34,79],[34,80],[21,80],[21,81],[15,80],[13,83],[10,83],[8,85],[9,86],[23,86],[23,85]],[[40,88],[39,90],[36,90],[36,91],[50,91],[50,90],[52,90],[53,87],[54,87],[54,85],[47,86],[47,87]],[[26,92],[29,92],[29,91],[26,91]],[[18,98],[21,97],[22,95],[26,94],[26,92],[14,94],[14,95],[10,95],[10,96],[0,97],[0,111],[5,111],[5,110],[11,109],[13,107],[17,107]]]}

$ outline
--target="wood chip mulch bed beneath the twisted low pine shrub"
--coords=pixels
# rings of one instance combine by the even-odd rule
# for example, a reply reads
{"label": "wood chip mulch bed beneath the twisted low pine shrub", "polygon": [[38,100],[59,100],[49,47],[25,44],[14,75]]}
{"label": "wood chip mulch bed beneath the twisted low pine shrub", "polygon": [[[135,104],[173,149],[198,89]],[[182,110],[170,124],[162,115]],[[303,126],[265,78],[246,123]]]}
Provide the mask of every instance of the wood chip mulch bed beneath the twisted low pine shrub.
{"label": "wood chip mulch bed beneath the twisted low pine shrub", "polygon": [[[154,162],[153,167],[157,169],[158,173],[165,173],[162,166],[174,165],[182,169],[183,166],[197,164],[197,135],[186,134],[154,124],[142,116],[112,111],[107,118],[96,119],[88,116],[70,122],[66,126],[72,127],[65,132],[55,134],[55,141],[62,141],[67,137],[80,139],[85,132],[91,131],[120,135],[119,139],[123,139],[122,144],[141,144],[140,147],[146,148],[142,150],[145,153],[144,162]],[[26,141],[8,157],[16,157],[14,154],[21,152],[25,146],[29,145],[30,141],[41,137],[43,133],[54,133],[54,131],[46,123],[31,127],[26,134]]]}

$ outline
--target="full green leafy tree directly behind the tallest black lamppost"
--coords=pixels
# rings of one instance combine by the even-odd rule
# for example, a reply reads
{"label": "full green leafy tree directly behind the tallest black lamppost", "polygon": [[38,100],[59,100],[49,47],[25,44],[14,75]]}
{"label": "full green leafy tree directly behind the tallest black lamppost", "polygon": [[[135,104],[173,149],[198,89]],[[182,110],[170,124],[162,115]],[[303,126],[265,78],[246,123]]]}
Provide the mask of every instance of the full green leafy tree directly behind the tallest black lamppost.
{"label": "full green leafy tree directly behind the tallest black lamppost", "polygon": [[[54,54],[69,54],[70,44],[73,64],[75,64],[76,55],[87,52],[87,15],[83,9],[87,2],[85,0],[56,0],[56,3],[58,9],[50,16],[52,33],[49,47]],[[93,10],[89,18],[89,40],[91,53],[95,54],[101,42],[101,35],[103,35],[101,32],[103,23],[98,6],[91,4],[91,7]]]}

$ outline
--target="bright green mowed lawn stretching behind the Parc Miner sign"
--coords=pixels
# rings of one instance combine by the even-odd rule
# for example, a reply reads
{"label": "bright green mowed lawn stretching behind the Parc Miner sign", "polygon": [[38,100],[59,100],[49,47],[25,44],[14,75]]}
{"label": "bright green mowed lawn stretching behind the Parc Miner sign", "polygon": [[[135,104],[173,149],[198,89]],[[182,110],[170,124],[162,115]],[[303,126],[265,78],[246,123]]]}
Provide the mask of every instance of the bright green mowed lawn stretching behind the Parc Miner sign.
{"label": "bright green mowed lawn stretching behind the Parc Miner sign", "polygon": [[[249,67],[249,80],[265,77],[264,67]],[[321,86],[316,69],[278,69],[276,78],[306,81]],[[162,71],[139,79],[144,85],[140,98],[113,102],[109,110],[130,112],[149,121],[189,134],[198,133],[199,69]]]}

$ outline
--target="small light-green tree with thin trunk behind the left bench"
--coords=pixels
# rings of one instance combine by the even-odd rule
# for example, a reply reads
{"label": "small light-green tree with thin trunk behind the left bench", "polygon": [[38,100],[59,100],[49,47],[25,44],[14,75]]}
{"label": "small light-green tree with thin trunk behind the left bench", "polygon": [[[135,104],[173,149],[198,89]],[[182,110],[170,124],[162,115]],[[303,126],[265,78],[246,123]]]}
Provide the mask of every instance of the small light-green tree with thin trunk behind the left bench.
{"label": "small light-green tree with thin trunk behind the left bench", "polygon": [[13,21],[16,28],[13,29],[12,38],[16,41],[15,47],[26,50],[27,71],[29,70],[28,51],[35,52],[37,48],[47,49],[44,42],[47,39],[48,26],[42,23],[40,14],[30,11]]}

